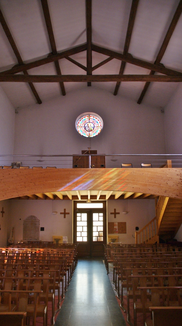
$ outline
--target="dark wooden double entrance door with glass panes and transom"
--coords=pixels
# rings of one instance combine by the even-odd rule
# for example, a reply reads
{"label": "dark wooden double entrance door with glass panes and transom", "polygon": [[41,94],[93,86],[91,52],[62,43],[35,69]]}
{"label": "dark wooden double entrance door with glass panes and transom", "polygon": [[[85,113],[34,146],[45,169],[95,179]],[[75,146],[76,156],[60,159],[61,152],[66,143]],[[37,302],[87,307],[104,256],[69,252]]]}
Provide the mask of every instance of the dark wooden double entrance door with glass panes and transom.
{"label": "dark wooden double entrance door with glass panes and transom", "polygon": [[[82,203],[85,207],[78,208],[77,204]],[[93,208],[97,206],[94,204],[98,203],[103,207]],[[73,240],[79,244],[79,257],[103,257],[103,244],[107,243],[106,201],[92,201],[91,204],[87,204],[86,201],[74,201]]]}

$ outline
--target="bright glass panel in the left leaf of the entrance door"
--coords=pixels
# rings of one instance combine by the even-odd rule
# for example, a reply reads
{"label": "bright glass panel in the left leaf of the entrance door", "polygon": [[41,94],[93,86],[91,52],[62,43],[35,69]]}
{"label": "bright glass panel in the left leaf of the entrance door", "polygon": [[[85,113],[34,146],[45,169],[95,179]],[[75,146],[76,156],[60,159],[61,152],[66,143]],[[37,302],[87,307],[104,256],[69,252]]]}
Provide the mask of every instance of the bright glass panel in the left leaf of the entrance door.
{"label": "bright glass panel in the left leaf of the entrance door", "polygon": [[87,241],[87,213],[77,213],[77,241]]}

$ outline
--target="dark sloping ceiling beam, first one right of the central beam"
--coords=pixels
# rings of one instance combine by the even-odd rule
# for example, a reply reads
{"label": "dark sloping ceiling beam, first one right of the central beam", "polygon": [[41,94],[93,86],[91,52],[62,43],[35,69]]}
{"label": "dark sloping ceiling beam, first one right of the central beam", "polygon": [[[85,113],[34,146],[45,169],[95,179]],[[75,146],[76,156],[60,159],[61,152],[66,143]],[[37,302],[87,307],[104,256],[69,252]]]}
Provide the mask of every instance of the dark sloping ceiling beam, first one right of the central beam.
{"label": "dark sloping ceiling beam, first one right of the central beam", "polygon": [[[130,10],[130,14],[129,14],[129,21],[128,21],[128,26],[127,26],[127,35],[126,35],[126,39],[125,39],[125,46],[124,46],[123,54],[127,54],[128,53],[128,49],[129,49],[129,44],[130,44],[130,40],[131,40],[131,34],[132,34],[132,31],[133,31],[133,26],[134,26],[134,22],[135,22],[135,16],[136,16],[136,12],[137,12],[138,3],[139,3],[139,0],[132,0],[131,10]],[[125,69],[125,65],[126,65],[126,62],[125,61],[121,61],[121,67],[120,67],[120,70],[119,70],[119,75],[123,75],[123,72],[124,72],[124,69]],[[115,86],[114,95],[117,95],[117,92],[118,92],[118,89],[119,89],[119,85],[120,85],[120,82],[117,82],[116,83],[116,86]]]}

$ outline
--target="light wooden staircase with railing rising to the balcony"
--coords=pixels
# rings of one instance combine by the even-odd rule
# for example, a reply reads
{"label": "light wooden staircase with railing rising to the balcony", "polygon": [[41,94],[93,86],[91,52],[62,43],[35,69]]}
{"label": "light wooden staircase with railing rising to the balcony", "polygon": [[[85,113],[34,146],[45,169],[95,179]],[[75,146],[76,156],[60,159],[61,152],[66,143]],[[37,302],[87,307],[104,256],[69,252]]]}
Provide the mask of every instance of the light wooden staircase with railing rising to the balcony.
{"label": "light wooden staircase with railing rising to the balcony", "polygon": [[182,200],[160,196],[156,200],[156,217],[135,232],[136,244],[159,243],[163,240],[173,239],[182,224]]}

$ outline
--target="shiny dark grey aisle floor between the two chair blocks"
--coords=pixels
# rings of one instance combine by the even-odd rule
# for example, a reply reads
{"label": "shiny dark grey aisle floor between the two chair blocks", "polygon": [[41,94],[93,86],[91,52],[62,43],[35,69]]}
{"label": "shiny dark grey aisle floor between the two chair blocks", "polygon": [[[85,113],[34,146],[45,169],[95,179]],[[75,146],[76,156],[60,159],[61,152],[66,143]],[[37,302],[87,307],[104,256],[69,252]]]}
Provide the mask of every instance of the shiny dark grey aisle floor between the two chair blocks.
{"label": "shiny dark grey aisle floor between the two chair blocks", "polygon": [[126,326],[102,258],[79,258],[55,326]]}

